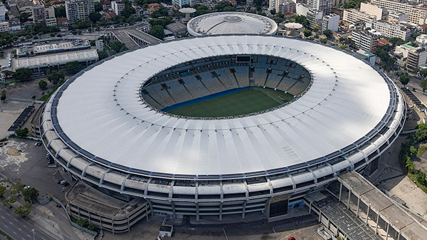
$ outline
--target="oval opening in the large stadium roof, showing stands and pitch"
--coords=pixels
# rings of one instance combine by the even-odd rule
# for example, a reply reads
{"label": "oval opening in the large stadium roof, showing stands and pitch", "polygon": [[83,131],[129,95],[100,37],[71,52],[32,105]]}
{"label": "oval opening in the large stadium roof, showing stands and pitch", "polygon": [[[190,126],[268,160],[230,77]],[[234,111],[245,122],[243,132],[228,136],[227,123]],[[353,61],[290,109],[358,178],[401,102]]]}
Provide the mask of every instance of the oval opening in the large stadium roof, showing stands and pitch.
{"label": "oval opening in the large stadium roof, showing stands and pitch", "polygon": [[139,90],[154,110],[177,118],[237,118],[281,108],[311,85],[306,68],[286,58],[227,55],[167,68]]}

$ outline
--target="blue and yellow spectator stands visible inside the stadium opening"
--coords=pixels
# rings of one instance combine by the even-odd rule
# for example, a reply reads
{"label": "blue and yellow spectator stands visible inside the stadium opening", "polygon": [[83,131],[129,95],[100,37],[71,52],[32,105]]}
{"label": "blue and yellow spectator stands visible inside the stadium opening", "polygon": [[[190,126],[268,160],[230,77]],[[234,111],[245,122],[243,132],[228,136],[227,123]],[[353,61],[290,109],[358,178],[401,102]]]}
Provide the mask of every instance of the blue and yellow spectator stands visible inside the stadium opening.
{"label": "blue and yellow spectator stands visible inside the stadium opening", "polygon": [[292,61],[270,56],[253,56],[251,63],[236,63],[235,59],[235,56],[223,56],[181,63],[150,79],[141,94],[158,109],[206,100],[205,97],[213,98],[213,95],[217,98],[216,94],[248,87],[251,68],[255,86],[300,95],[310,85],[310,73]]}

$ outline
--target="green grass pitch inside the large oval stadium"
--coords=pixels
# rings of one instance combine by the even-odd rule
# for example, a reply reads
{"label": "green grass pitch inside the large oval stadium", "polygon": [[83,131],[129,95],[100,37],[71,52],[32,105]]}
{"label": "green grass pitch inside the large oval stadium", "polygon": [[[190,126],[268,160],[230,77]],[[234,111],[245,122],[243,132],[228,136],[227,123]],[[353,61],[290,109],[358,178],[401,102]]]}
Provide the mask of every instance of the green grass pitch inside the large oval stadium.
{"label": "green grass pitch inside the large oval stadium", "polygon": [[292,100],[293,95],[271,88],[253,87],[201,103],[194,103],[168,111],[189,117],[226,117],[256,113]]}

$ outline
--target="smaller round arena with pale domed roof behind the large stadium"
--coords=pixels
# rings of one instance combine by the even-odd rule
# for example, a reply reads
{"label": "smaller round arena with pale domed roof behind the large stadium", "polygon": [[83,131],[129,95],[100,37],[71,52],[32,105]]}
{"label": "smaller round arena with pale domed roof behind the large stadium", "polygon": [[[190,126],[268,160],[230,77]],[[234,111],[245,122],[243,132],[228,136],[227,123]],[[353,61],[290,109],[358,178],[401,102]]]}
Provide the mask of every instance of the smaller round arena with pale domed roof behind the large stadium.
{"label": "smaller round arena with pale domed roof behind the large stadium", "polygon": [[273,35],[278,31],[278,24],[258,14],[226,11],[197,16],[189,21],[187,30],[192,36],[233,33]]}

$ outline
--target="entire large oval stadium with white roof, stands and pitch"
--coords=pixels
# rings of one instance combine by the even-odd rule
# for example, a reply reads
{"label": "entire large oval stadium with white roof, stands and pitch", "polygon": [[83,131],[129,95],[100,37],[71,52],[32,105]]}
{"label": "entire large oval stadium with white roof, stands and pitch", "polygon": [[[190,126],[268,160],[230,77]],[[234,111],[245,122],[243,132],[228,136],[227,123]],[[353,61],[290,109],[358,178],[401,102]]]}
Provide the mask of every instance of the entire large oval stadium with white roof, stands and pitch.
{"label": "entire large oval stadium with white roof, stands and pitch", "polygon": [[201,36],[74,75],[46,103],[41,137],[75,179],[152,214],[273,221],[339,174],[373,172],[405,115],[396,85],[344,51]]}

